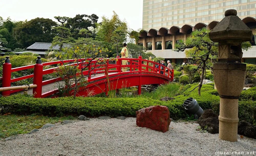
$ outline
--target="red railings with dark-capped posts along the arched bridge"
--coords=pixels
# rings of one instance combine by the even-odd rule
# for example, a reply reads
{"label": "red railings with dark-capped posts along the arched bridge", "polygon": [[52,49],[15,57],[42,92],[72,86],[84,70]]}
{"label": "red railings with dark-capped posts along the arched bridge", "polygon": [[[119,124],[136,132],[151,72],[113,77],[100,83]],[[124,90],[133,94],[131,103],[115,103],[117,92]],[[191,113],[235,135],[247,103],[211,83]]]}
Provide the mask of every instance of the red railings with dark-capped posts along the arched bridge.
{"label": "red railings with dark-capped posts along the arched bridge", "polygon": [[[33,84],[36,84],[37,87],[33,88],[33,95],[34,97],[47,97],[49,95],[55,94],[58,91],[56,89],[43,93],[42,94],[42,86],[55,83],[58,81],[61,81],[61,77],[55,77],[50,80],[42,81],[42,76],[46,74],[51,74],[56,72],[56,70],[63,65],[70,66],[70,65],[77,65],[79,64],[79,69],[83,73],[83,75],[88,75],[88,82],[95,81],[97,79],[100,79],[99,77],[91,78],[92,75],[100,74],[100,73],[158,73],[162,74],[162,76],[166,77],[166,79],[169,79],[170,81],[173,80],[174,73],[173,70],[168,69],[166,66],[163,66],[160,63],[142,59],[141,56],[139,58],[120,58],[117,56],[117,58],[109,59],[109,58],[97,58],[97,59],[69,59],[69,60],[63,60],[63,61],[53,61],[53,62],[45,62],[41,63],[40,56],[37,59],[37,63],[34,65],[29,66],[23,66],[23,67],[17,67],[12,68],[12,65],[10,63],[9,57],[7,56],[5,59],[5,63],[3,64],[3,78],[2,78],[2,87],[10,87],[11,83],[17,82],[20,80],[26,80],[28,78],[33,78]],[[89,60],[89,61],[88,61]],[[122,64],[122,60],[127,60],[127,64]],[[98,62],[102,62],[101,64],[97,64]],[[88,64],[89,63],[89,64]],[[56,65],[59,64],[59,66],[49,69],[43,69],[44,66],[49,65]],[[87,67],[87,68],[85,68]],[[127,68],[127,72],[123,73],[122,68]],[[33,69],[34,73],[30,75],[25,75],[17,78],[11,78],[12,72],[27,70],[27,69]],[[106,72],[106,70],[108,72]],[[122,73],[121,73],[122,72]],[[33,85],[30,84],[30,85]],[[12,93],[20,92],[23,89],[14,89],[14,90],[6,90],[2,92],[3,96],[8,96]]]}

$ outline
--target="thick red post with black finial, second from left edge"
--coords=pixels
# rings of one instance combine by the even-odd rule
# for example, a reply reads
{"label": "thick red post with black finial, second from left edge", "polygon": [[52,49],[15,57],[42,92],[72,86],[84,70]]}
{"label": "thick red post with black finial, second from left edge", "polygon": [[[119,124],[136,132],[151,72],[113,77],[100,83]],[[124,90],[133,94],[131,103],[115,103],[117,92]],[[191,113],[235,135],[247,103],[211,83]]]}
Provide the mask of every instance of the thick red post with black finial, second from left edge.
{"label": "thick red post with black finial, second from left edge", "polygon": [[35,98],[40,98],[42,96],[42,80],[43,80],[43,65],[41,57],[38,56],[36,64],[34,65],[34,78],[33,84],[36,84],[37,87],[33,88],[33,95]]}

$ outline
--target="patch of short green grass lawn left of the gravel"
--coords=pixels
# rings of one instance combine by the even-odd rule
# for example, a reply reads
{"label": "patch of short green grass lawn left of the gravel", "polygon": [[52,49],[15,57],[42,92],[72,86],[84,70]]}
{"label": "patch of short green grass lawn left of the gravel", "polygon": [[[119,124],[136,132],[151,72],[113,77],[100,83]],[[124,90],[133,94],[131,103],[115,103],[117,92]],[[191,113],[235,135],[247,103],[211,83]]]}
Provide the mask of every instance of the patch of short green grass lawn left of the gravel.
{"label": "patch of short green grass lawn left of the gravel", "polygon": [[73,116],[49,117],[42,115],[0,115],[0,138],[28,133],[46,123],[57,123],[63,120],[74,120]]}

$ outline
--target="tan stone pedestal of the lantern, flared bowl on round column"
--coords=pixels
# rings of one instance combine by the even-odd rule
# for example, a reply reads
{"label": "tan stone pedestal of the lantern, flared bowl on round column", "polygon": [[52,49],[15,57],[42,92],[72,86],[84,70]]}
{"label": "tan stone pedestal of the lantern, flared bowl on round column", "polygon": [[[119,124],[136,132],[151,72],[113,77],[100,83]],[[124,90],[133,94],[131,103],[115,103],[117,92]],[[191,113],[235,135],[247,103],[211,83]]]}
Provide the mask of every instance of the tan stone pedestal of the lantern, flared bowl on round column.
{"label": "tan stone pedestal of the lantern, flared bowl on round column", "polygon": [[215,63],[214,81],[220,95],[219,138],[237,141],[238,97],[246,73],[243,63]]}

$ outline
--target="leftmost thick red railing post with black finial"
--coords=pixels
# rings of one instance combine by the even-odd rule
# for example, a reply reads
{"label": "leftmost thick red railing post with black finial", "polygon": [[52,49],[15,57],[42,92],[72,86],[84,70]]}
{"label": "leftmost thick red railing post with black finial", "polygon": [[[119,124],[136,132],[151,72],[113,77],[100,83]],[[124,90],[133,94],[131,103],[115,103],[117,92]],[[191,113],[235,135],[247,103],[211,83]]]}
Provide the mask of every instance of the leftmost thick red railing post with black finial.
{"label": "leftmost thick red railing post with black finial", "polygon": [[[10,63],[10,57],[6,56],[3,64],[3,79],[2,79],[2,87],[10,87],[11,86],[11,74],[12,74],[12,64]],[[3,96],[9,96],[10,90],[2,92]]]}

